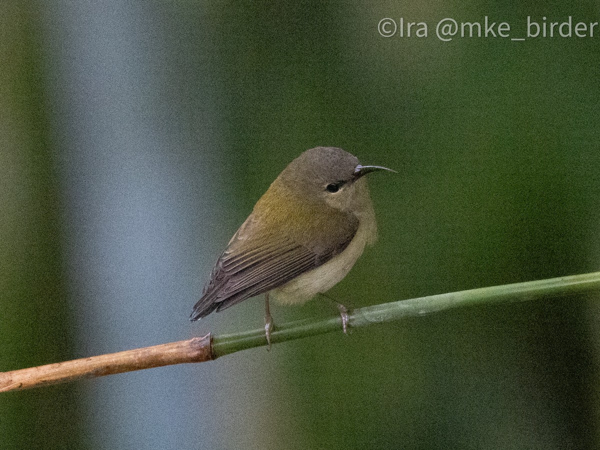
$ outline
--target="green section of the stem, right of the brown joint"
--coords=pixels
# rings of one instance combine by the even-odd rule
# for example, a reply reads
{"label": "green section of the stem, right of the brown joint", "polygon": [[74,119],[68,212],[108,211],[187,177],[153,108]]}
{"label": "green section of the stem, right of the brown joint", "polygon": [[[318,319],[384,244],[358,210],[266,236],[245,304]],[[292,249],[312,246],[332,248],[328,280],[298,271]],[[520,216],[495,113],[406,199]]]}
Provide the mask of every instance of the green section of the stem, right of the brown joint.
{"label": "green section of the stem, right of the brown joint", "polygon": [[[502,286],[482,287],[427,297],[413,298],[368,306],[352,311],[350,328],[360,328],[376,323],[395,322],[404,317],[424,316],[439,311],[467,306],[493,305],[505,302],[533,300],[548,296],[565,296],[575,293],[600,290],[600,272],[549,278],[548,280],[526,281]],[[303,337],[341,332],[341,317],[335,316],[314,322],[300,320],[278,326],[271,333],[271,342],[283,342]],[[239,350],[266,345],[264,329],[215,336],[213,354],[216,357],[229,355]]]}

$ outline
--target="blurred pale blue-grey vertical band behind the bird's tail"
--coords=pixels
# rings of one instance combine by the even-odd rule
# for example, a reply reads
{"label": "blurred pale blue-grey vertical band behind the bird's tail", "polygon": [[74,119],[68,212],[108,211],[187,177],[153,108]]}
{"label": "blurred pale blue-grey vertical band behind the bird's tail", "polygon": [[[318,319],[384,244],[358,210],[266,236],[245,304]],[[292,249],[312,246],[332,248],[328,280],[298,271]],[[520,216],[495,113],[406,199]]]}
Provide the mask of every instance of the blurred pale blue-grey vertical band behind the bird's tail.
{"label": "blurred pale blue-grey vertical band behind the bird's tail", "polygon": [[[211,71],[178,74],[206,49],[172,52],[173,24],[148,5],[44,8],[80,354],[186,338],[200,269],[213,257],[199,236],[217,229],[219,215],[199,167],[218,179],[221,149],[218,127],[202,119],[216,115]],[[200,415],[189,374],[164,368],[83,384],[95,448],[182,448],[179,427]]]}

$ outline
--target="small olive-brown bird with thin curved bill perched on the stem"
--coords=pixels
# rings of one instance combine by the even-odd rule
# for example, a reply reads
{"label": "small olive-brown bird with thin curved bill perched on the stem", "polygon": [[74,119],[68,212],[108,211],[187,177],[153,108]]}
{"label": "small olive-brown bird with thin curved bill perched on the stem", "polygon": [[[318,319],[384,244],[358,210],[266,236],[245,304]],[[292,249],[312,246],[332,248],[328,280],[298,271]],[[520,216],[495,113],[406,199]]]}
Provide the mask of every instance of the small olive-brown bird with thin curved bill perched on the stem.
{"label": "small olive-brown bird with thin curved bill perched on the stem", "polygon": [[[337,284],[377,239],[373,204],[361,166],[335,147],[316,147],[293,160],[254,205],[212,269],[190,320],[265,294],[265,335],[270,346],[269,296],[303,303]],[[346,332],[348,315],[340,307]]]}

